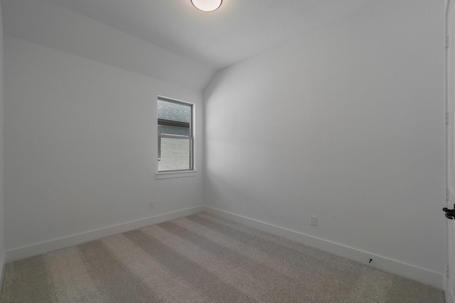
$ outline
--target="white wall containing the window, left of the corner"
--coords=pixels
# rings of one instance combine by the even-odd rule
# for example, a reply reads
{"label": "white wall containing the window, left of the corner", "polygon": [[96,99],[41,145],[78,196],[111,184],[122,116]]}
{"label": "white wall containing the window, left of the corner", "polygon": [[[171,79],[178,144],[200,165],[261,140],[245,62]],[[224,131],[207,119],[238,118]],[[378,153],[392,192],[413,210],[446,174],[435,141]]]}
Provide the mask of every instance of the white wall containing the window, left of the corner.
{"label": "white wall containing the window, left of the corner", "polygon": [[200,174],[156,180],[157,96],[196,104],[200,170],[201,92],[9,35],[4,68],[7,250],[203,204]]}

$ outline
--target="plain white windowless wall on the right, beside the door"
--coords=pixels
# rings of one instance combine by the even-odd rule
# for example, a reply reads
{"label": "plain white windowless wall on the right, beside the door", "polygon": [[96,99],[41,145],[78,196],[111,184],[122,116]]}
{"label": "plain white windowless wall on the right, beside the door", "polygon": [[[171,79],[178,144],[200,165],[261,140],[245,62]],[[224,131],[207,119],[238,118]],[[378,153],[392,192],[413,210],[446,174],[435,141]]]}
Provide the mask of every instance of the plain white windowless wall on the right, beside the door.
{"label": "plain white windowless wall on the right, beside the door", "polygon": [[377,1],[204,99],[206,205],[442,277],[444,1]]}

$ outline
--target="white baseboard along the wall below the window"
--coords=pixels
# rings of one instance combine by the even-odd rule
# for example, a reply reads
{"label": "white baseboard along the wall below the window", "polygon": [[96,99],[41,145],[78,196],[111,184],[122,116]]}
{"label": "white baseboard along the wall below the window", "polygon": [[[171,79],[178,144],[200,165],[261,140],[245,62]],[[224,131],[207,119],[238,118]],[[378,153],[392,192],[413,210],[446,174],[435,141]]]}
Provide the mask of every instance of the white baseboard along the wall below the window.
{"label": "white baseboard along the wall below the window", "polygon": [[86,233],[79,233],[77,235],[68,236],[64,238],[58,238],[51,241],[45,241],[42,243],[36,243],[31,246],[25,246],[21,248],[14,248],[6,251],[6,256],[2,260],[4,263],[9,263],[16,260],[21,260],[33,255],[39,255],[41,253],[48,253],[53,250],[66,248],[73,245],[78,245],[88,241],[105,238],[108,236],[116,235],[117,233],[124,233],[126,231],[132,231],[137,228],[143,228],[146,226],[159,224],[161,222],[178,219],[183,216],[190,216],[191,214],[198,214],[203,211],[203,206],[196,206],[190,209],[182,209],[180,211],[173,211],[167,214],[160,214],[157,216],[151,216],[146,219],[140,219],[137,221],[131,221],[124,224],[118,224],[109,226],[106,228],[100,228],[95,231],[88,231]]}

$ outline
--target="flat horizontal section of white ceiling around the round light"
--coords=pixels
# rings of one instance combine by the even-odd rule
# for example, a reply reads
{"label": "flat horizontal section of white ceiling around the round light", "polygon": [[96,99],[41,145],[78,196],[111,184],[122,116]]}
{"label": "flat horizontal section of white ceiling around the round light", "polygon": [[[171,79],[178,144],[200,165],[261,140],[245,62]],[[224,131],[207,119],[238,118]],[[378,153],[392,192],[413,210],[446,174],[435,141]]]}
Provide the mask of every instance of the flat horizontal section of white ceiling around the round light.
{"label": "flat horizontal section of white ceiling around the round light", "polygon": [[52,0],[82,15],[211,67],[221,68],[345,16],[373,0]]}

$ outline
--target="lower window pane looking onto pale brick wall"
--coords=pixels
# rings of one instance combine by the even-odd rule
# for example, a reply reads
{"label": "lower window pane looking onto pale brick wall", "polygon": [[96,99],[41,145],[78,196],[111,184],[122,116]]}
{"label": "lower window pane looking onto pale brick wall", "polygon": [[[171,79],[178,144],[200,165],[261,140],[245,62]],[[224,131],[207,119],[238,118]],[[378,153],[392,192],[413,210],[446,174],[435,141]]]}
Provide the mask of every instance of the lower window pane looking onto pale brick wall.
{"label": "lower window pane looking onto pale brick wall", "polygon": [[191,139],[160,138],[158,170],[191,170]]}

